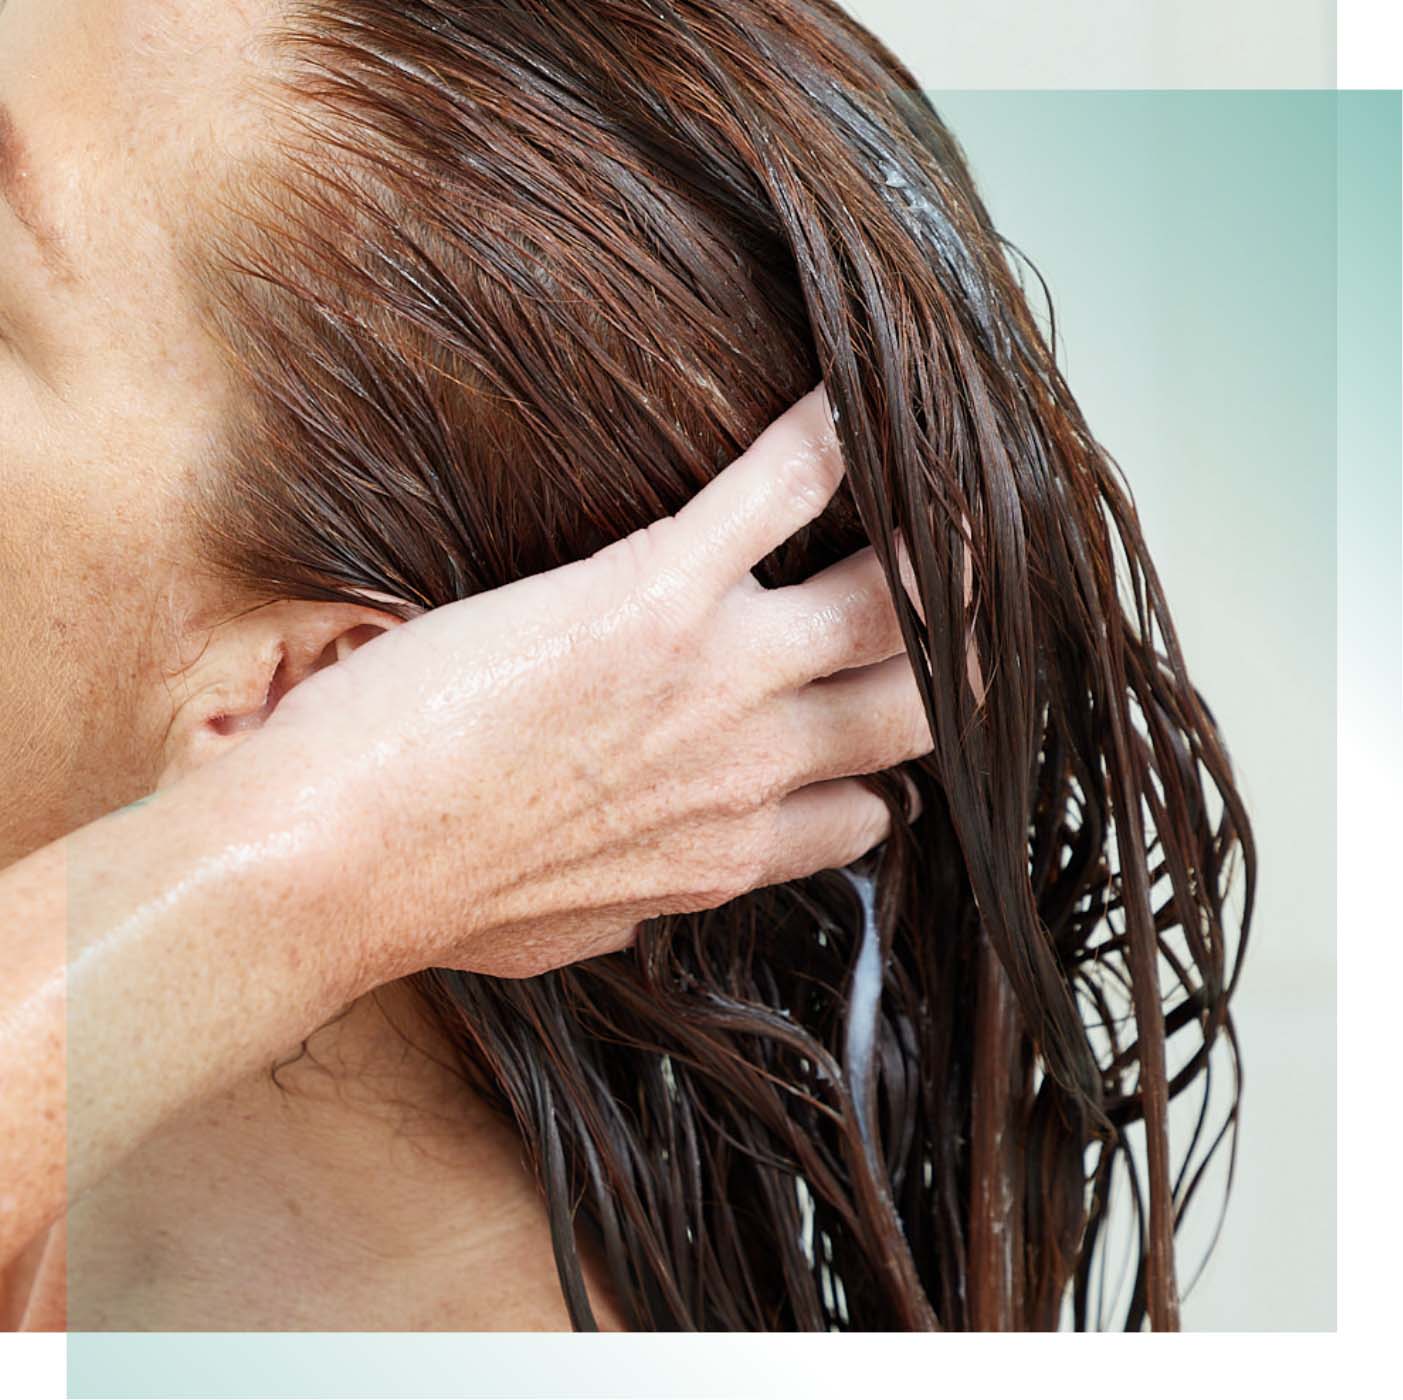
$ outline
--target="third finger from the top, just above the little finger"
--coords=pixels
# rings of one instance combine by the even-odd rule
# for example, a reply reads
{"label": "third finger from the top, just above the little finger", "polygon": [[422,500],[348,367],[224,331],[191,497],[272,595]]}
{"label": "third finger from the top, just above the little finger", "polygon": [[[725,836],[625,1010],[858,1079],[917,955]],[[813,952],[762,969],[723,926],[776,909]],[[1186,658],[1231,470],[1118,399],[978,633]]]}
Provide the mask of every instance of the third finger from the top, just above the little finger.
{"label": "third finger from the top, just above the little finger", "polygon": [[787,714],[801,735],[807,783],[877,773],[934,748],[905,652],[804,686]]}

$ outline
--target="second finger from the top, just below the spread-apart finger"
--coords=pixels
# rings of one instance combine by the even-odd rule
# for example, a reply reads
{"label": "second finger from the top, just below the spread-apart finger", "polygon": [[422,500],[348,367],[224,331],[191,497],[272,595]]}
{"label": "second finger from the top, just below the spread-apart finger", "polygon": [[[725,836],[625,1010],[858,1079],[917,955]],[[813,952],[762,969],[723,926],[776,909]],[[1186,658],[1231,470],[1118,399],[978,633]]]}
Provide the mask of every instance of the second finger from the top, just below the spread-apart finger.
{"label": "second finger from the top, just below the spread-apart finger", "polygon": [[[898,540],[904,571],[911,565]],[[868,546],[791,588],[756,600],[774,628],[769,651],[786,685],[803,685],[904,649],[887,577]]]}

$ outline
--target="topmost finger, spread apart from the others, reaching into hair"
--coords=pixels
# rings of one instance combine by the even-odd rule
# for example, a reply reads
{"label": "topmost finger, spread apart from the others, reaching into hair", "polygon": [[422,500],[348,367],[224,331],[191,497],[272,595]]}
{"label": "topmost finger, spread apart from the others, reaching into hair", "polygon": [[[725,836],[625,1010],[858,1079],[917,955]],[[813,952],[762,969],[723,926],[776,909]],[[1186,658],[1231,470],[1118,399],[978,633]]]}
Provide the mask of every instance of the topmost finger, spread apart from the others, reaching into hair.
{"label": "topmost finger, spread apart from the others, reaching into hair", "polygon": [[724,592],[819,516],[842,477],[828,393],[819,384],[678,512],[675,537],[689,556],[706,560]]}

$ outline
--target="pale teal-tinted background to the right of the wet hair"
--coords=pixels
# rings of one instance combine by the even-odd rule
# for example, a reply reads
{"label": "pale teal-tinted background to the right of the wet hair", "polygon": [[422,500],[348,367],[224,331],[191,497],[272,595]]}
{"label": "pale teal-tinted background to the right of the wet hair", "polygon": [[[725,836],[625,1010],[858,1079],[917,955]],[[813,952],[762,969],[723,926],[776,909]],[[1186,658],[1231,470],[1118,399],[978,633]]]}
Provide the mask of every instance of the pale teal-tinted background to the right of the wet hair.
{"label": "pale teal-tinted background to the right of the wet hair", "polygon": [[[1254,823],[1260,882],[1235,1000],[1237,1171],[1184,1326],[1333,1328],[1337,97],[940,86],[947,55],[958,53],[961,86],[975,84],[981,45],[1003,45],[1005,83],[1021,63],[1030,87],[1059,83],[1062,69],[1090,87],[1103,59],[1124,62],[1107,45],[1136,43],[1149,45],[1141,66],[1170,86],[1179,58],[1200,74],[1212,58],[1204,27],[1186,22],[1193,0],[1129,7],[1139,22],[1115,27],[1099,24],[1094,0],[954,17],[904,0],[846,7],[912,69],[996,226],[1047,279],[1061,368],[1129,480]],[[1322,81],[1308,41],[1330,7],[1271,8],[1295,14],[1288,39],[1305,36],[1295,56],[1288,43],[1285,72]],[[1020,22],[1000,31],[1012,11]],[[1228,80],[1250,86],[1250,67]],[[1235,913],[1240,902],[1239,881]],[[1179,1131],[1194,1097],[1176,1105]],[[1216,1225],[1225,1167],[1226,1150],[1180,1234],[1181,1284]]]}

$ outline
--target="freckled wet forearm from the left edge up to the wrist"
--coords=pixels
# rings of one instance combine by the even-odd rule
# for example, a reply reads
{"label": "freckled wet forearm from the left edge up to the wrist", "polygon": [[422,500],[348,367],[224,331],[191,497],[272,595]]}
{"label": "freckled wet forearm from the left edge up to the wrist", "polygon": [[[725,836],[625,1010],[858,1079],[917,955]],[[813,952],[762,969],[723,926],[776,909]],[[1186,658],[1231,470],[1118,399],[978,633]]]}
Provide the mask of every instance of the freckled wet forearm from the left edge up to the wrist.
{"label": "freckled wet forearm from the left edge up to the wrist", "polygon": [[363,989],[334,843],[217,767],[0,873],[0,1263]]}

